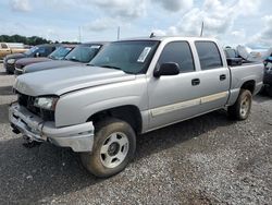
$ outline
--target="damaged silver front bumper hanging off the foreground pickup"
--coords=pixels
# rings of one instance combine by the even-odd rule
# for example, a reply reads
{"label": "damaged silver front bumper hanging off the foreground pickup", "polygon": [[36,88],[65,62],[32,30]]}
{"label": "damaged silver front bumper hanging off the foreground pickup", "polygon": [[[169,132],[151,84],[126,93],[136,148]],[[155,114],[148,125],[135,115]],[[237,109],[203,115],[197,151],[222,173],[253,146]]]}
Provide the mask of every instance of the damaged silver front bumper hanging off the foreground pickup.
{"label": "damaged silver front bumper hanging off the foreground pickup", "polygon": [[74,152],[91,152],[94,144],[92,122],[55,128],[54,122],[45,122],[24,107],[14,102],[9,108],[9,119],[13,128],[37,142],[51,142]]}

